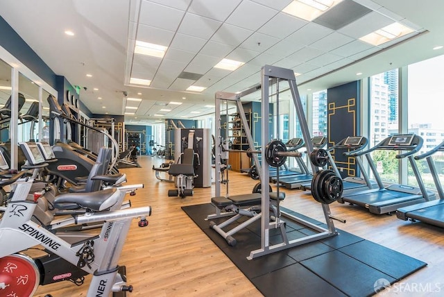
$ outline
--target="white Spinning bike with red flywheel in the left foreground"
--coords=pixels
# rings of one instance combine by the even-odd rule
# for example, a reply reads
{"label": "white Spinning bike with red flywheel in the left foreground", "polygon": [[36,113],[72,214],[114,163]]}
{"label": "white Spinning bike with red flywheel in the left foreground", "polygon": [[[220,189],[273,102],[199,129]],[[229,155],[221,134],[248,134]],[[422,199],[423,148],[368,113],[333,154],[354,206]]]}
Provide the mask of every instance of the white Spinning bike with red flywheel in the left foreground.
{"label": "white Spinning bike with red flywheel in the left foreground", "polygon": [[[132,219],[149,216],[151,207],[121,210],[126,191],[117,188],[61,194],[54,200],[59,210],[78,207],[87,210],[85,214],[74,214],[71,224],[105,221],[99,235],[85,233],[84,237],[78,237],[80,241],[70,243],[63,235],[54,234],[59,227],[57,222],[41,226],[33,221],[40,194],[30,194],[34,180],[23,178],[26,173],[20,171],[7,180],[0,180],[0,187],[14,183],[10,202],[0,207],[4,212],[0,220],[0,241],[8,243],[0,249],[0,296],[33,296],[38,285],[61,280],[81,285],[87,274],[92,274],[87,297],[133,291],[133,286],[126,285],[126,276],[119,272],[117,262]],[[32,258],[21,253],[39,244],[47,255]]]}

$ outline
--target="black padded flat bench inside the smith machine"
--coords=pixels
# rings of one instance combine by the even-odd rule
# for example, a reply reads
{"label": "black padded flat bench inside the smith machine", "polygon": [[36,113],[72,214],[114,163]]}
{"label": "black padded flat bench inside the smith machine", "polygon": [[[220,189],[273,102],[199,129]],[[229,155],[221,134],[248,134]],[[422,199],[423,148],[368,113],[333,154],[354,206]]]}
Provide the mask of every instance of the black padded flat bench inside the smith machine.
{"label": "black padded flat bench inside the smith machine", "polygon": [[[284,200],[284,198],[285,193],[280,192],[279,201]],[[273,220],[275,220],[275,218],[277,217],[280,217],[280,214],[278,214],[278,210],[276,207],[279,201],[278,194],[271,192],[270,209],[271,212],[273,212],[273,216],[271,217]],[[236,239],[234,239],[232,235],[261,218],[262,194],[260,193],[234,195],[229,197],[216,196],[211,198],[211,203],[220,210],[225,210],[225,212],[235,214],[230,219],[219,223],[219,225],[214,223],[214,221],[210,221],[210,228],[216,230],[216,232],[218,232],[219,235],[221,235],[230,246],[235,246],[237,243]],[[250,217],[250,219],[244,221],[243,223],[240,223],[238,226],[232,228],[231,230],[228,230],[227,232],[223,230],[223,228],[225,228],[226,226],[245,216]]]}

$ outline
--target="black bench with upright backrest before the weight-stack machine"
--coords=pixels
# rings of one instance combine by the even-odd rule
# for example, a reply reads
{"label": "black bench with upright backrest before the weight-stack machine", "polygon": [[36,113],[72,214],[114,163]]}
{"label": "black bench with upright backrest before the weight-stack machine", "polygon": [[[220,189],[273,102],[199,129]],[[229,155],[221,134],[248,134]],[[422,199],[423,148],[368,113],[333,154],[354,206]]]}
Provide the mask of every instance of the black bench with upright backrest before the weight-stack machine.
{"label": "black bench with upright backrest before the weight-stack machine", "polygon": [[196,177],[194,173],[194,153],[193,148],[185,148],[180,155],[180,163],[171,164],[168,173],[176,177],[177,189],[169,189],[168,196],[193,196],[193,179]]}

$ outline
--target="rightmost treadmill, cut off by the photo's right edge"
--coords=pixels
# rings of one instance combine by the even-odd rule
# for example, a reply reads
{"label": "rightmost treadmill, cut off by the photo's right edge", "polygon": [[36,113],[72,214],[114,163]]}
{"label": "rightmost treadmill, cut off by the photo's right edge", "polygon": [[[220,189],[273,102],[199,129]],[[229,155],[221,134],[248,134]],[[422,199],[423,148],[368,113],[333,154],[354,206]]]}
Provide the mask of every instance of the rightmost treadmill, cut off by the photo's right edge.
{"label": "rightmost treadmill, cut off by the photo's right edge", "polygon": [[421,160],[426,158],[427,164],[432,173],[434,183],[436,185],[436,191],[438,192],[439,199],[418,203],[406,207],[401,207],[396,210],[396,217],[407,221],[422,221],[434,226],[444,228],[444,192],[443,186],[439,180],[438,171],[436,171],[435,163],[432,155],[437,152],[444,152],[444,141],[438,146],[432,148],[432,150],[422,155],[416,155],[415,160]]}

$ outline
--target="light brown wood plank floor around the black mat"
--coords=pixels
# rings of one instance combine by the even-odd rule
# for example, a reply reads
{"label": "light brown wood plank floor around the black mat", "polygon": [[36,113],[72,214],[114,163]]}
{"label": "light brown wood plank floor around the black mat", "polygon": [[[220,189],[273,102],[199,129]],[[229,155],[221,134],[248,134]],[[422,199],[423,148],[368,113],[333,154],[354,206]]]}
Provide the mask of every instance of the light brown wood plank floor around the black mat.
{"label": "light brown wood plank floor around the black mat", "polygon": [[[180,209],[209,203],[214,185],[196,188],[194,196],[169,197],[167,192],[173,184],[157,180],[152,170],[153,164],[159,165],[162,159],[142,156],[138,162],[142,168],[121,171],[127,174],[128,183],[144,183],[144,189],[130,197],[132,204],[151,205],[153,212],[146,228],[138,228],[134,220],[123,248],[120,263],[126,265],[128,284],[134,286],[128,296],[262,296]],[[232,171],[229,179],[230,194],[250,193],[256,183]],[[311,195],[298,189],[284,192],[287,198],[282,205],[324,221],[321,205]],[[351,205],[332,203],[330,209],[334,216],[347,220],[345,224],[336,222],[336,228],[427,262],[425,269],[379,296],[444,296],[444,230],[401,221],[395,215],[370,214]],[[80,287],[70,282],[46,285],[35,296],[85,296],[88,283],[89,276]]]}

